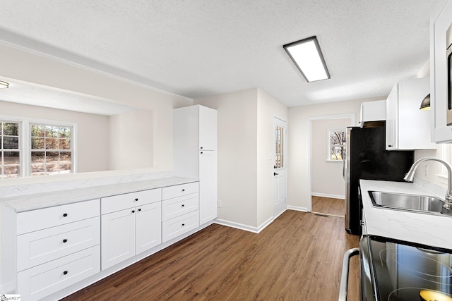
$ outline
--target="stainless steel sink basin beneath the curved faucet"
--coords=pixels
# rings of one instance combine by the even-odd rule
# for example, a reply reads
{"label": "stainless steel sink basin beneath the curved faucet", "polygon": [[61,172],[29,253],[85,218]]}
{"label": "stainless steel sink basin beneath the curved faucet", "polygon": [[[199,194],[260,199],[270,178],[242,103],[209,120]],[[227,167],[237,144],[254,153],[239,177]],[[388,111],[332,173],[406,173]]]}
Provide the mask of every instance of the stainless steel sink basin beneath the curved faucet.
{"label": "stainless steel sink basin beneath the curved faucet", "polygon": [[426,214],[446,214],[452,216],[452,211],[443,207],[444,201],[427,195],[408,195],[403,193],[369,191],[374,207],[403,209]]}

